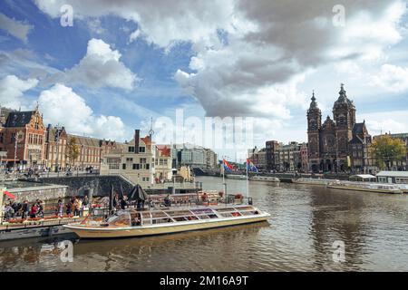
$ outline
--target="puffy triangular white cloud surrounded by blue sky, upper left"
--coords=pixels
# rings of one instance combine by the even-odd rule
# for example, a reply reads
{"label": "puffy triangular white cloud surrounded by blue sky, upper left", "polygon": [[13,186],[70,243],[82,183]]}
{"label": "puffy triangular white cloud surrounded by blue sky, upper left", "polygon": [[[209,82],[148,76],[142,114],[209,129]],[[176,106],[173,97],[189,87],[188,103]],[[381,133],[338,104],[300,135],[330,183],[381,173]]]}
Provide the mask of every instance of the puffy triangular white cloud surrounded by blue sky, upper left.
{"label": "puffy triangular white cloud surrounded by blue sky, upper left", "polygon": [[138,78],[120,59],[119,51],[112,50],[111,45],[101,39],[92,38],[88,42],[86,55],[80,63],[64,73],[63,79],[91,88],[113,87],[131,91]]}

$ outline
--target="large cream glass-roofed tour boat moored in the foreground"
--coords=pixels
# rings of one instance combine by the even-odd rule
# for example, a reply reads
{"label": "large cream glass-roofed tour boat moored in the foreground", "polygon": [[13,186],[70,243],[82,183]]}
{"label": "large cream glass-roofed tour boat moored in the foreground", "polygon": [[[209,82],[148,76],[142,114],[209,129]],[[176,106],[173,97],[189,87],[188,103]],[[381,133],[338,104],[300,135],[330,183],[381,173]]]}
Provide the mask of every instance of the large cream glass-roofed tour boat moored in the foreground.
{"label": "large cream glass-roofed tour boat moored in the foreground", "polygon": [[64,225],[81,238],[144,237],[266,221],[270,215],[250,205],[118,211],[106,221]]}

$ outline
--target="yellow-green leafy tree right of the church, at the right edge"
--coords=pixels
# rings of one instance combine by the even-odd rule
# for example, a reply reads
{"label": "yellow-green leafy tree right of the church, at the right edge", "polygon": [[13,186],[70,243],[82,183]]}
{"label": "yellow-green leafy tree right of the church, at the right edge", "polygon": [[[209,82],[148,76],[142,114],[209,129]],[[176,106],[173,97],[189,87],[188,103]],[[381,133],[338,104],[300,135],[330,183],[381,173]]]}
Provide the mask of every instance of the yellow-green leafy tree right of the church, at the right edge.
{"label": "yellow-green leafy tree right of the church, at the right edge", "polygon": [[370,150],[379,169],[390,169],[394,161],[402,160],[406,155],[403,140],[387,134],[374,139]]}

